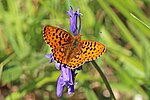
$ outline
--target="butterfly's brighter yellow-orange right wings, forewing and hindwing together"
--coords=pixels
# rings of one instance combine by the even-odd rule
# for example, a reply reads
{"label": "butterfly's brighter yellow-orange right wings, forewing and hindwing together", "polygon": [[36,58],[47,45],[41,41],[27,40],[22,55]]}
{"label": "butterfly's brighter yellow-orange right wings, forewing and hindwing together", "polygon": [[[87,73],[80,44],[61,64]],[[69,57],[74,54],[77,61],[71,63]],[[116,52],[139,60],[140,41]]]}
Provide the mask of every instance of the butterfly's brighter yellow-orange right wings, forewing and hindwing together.
{"label": "butterfly's brighter yellow-orange right wings, forewing and hindwing together", "polygon": [[81,40],[81,54],[73,57],[67,64],[69,68],[75,69],[85,62],[99,58],[105,52],[105,46],[99,42]]}

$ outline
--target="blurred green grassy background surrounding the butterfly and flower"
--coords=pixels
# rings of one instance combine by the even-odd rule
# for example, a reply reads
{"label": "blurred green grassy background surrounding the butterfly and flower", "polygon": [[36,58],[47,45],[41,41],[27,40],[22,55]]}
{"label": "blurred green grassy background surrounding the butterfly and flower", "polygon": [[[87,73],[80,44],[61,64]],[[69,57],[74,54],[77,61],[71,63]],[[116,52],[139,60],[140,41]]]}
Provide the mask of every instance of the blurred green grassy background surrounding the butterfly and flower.
{"label": "blurred green grassy background surrounding the butterfly and flower", "polygon": [[[0,0],[0,100],[58,99],[60,72],[45,58],[50,47],[42,29],[69,31],[70,6],[83,14],[82,39],[106,46],[96,62],[117,100],[150,99],[150,0]],[[75,94],[68,96],[65,88],[62,100],[110,99],[91,63],[76,82]]]}

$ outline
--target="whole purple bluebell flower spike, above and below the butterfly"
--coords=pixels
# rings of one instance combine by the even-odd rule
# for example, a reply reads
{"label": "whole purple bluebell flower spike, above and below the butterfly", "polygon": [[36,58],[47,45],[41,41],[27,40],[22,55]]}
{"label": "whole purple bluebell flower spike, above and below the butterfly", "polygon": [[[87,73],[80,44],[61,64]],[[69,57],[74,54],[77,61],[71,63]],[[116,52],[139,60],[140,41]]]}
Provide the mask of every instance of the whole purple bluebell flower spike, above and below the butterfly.
{"label": "whole purple bluebell flower spike, above and below the butterfly", "polygon": [[[79,9],[77,9],[76,12],[73,12],[72,7],[70,7],[70,10],[67,11],[67,14],[70,15],[70,31],[73,33],[74,36],[76,36],[77,33],[77,17],[80,17]],[[47,58],[50,58],[50,63],[54,62],[53,54],[47,54]],[[68,88],[68,94],[74,93],[74,80],[77,73],[75,73],[76,70],[81,70],[82,66],[78,67],[77,69],[71,70],[67,67],[65,64],[55,63],[55,66],[58,70],[61,70],[61,74],[58,77],[57,80],[57,96],[62,96],[62,92],[64,89],[64,86],[67,86]]]}

